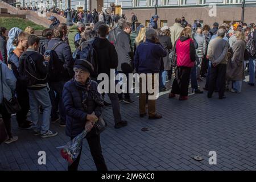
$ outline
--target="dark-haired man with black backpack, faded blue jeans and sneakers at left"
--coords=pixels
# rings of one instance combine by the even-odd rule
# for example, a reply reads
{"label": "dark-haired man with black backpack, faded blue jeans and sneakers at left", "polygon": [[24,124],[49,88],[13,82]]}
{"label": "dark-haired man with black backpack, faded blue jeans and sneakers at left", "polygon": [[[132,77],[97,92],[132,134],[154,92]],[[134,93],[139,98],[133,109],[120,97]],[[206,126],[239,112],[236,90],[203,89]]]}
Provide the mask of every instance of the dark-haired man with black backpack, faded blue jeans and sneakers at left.
{"label": "dark-haired man with black backpack, faded blue jeans and sneakers at left", "polygon": [[[51,100],[47,89],[49,63],[38,53],[40,38],[28,36],[27,51],[20,56],[19,80],[27,86],[30,97],[32,129],[41,138],[55,137],[58,133],[49,130]],[[42,125],[39,125],[39,105],[43,108]]]}

